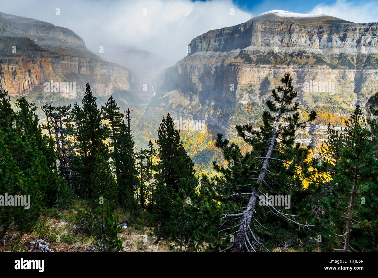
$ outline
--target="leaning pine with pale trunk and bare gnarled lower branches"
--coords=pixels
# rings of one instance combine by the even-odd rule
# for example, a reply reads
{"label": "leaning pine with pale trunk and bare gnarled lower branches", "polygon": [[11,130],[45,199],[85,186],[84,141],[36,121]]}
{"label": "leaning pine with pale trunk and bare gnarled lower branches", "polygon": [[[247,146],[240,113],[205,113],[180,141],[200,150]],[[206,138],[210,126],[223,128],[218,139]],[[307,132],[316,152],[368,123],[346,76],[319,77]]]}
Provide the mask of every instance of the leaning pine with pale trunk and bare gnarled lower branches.
{"label": "leaning pine with pale trunk and bare gnarled lower branches", "polygon": [[[254,218],[257,202],[268,208],[267,213],[282,217],[299,227],[311,226],[299,223],[296,220],[298,215],[283,213],[274,204],[259,197],[264,194],[262,189],[279,194],[278,184],[289,189],[296,188],[298,185],[289,182],[292,180],[290,175],[295,171],[304,171],[301,165],[307,158],[309,148],[300,148],[299,144],[294,143],[294,136],[296,129],[303,129],[308,122],[315,120],[316,113],[312,111],[306,121],[300,121],[297,112],[299,103],[292,104],[297,92],[293,91],[291,81],[290,75],[286,73],[281,79],[283,86],[272,90],[274,101],[266,101],[268,111],[263,113],[263,126],[260,130],[254,130],[250,125],[236,127],[239,137],[251,146],[251,152],[242,156],[239,147],[235,144],[228,146],[229,141],[218,135],[217,146],[222,149],[225,157],[228,156],[229,162],[228,169],[215,165],[215,169],[226,176],[224,189],[227,193],[222,197],[239,198],[237,202],[240,204],[248,200],[248,203],[244,207],[240,205],[237,211],[223,214],[224,222],[220,232],[231,232],[224,238],[234,236],[234,241],[223,251],[256,251],[257,246],[263,247],[263,243],[255,237],[251,229],[251,224],[264,227]],[[227,225],[229,220],[235,225]],[[268,251],[266,248],[265,250]]]}

